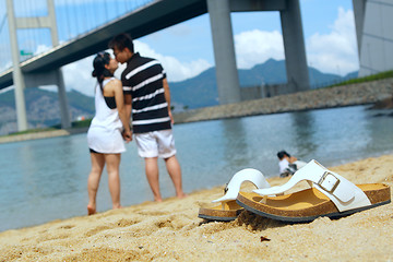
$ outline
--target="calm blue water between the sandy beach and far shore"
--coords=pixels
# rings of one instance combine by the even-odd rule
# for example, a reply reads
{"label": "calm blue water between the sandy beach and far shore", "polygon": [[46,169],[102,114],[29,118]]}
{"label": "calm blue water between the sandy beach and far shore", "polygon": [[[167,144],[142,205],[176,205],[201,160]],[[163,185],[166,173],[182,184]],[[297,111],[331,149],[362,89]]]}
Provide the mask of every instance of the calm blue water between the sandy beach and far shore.
{"label": "calm blue water between the sandy beach and far shore", "polygon": [[[224,184],[246,167],[277,176],[279,150],[325,166],[392,154],[389,114],[356,106],[176,124],[184,191]],[[127,148],[120,166],[124,206],[153,199],[135,144]],[[86,214],[91,160],[85,133],[0,144],[0,231]],[[163,196],[172,196],[163,160],[159,168]],[[111,207],[106,172],[97,203],[98,212]]]}

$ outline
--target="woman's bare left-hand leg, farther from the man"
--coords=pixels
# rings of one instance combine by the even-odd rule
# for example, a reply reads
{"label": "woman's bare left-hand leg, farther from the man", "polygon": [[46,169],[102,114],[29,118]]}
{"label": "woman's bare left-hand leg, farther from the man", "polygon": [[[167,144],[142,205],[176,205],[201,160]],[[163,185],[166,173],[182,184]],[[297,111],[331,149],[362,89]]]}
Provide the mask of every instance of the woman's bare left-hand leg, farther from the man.
{"label": "woman's bare left-hand leg, farther from the man", "polygon": [[93,215],[96,213],[96,196],[99,186],[99,179],[103,174],[105,158],[103,154],[91,153],[92,170],[87,178],[87,192],[88,192],[88,204],[87,214]]}

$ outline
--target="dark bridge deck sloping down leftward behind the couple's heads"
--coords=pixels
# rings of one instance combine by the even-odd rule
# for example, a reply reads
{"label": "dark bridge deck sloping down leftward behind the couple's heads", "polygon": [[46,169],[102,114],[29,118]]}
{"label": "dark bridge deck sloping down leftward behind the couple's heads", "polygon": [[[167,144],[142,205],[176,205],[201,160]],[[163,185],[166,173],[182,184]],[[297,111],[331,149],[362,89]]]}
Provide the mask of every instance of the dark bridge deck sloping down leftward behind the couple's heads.
{"label": "dark bridge deck sloping down leftward behind the couple's heads", "polygon": [[[108,48],[108,41],[127,32],[136,39],[207,12],[205,0],[157,0],[76,39],[21,63],[23,73],[41,73],[75,62]],[[11,86],[12,69],[0,73],[0,90]]]}

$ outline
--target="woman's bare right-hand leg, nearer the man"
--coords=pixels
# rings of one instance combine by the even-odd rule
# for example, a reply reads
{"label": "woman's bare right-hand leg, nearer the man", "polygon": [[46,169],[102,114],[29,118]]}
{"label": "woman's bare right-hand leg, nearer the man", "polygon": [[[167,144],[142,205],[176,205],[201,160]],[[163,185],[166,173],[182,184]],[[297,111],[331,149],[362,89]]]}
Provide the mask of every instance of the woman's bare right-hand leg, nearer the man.
{"label": "woman's bare right-hand leg, nearer the man", "polygon": [[108,171],[109,192],[112,200],[112,209],[120,209],[120,154],[105,154]]}

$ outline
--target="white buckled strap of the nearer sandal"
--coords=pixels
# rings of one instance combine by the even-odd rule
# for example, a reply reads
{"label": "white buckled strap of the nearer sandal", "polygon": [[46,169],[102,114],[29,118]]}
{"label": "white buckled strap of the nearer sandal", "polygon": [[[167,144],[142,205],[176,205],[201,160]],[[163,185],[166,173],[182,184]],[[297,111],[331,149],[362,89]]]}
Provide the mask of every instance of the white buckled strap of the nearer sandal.
{"label": "white buckled strap of the nearer sandal", "polygon": [[258,189],[253,190],[253,192],[261,195],[279,194],[291,189],[302,180],[312,181],[313,186],[332,200],[341,212],[371,204],[361,189],[338,174],[330,171],[317,160],[309,162],[305,167],[295,172],[285,184],[269,189]]}

